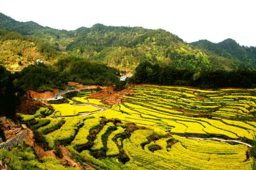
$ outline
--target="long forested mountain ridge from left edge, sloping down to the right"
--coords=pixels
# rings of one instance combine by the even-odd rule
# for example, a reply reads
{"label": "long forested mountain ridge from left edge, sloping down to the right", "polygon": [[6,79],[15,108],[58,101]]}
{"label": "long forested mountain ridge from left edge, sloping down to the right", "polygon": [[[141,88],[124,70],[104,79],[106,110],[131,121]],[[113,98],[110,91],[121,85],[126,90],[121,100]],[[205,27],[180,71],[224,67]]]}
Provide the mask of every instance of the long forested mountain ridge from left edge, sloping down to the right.
{"label": "long forested mountain ridge from left edge, sloping down to the right", "polygon": [[0,13],[0,29],[33,37],[71,56],[103,62],[119,69],[134,70],[140,62],[200,71],[206,69],[254,69],[244,61],[199,50],[178,36],[162,30],[142,27],[95,24],[74,31],[43,27],[32,21],[19,22]]}

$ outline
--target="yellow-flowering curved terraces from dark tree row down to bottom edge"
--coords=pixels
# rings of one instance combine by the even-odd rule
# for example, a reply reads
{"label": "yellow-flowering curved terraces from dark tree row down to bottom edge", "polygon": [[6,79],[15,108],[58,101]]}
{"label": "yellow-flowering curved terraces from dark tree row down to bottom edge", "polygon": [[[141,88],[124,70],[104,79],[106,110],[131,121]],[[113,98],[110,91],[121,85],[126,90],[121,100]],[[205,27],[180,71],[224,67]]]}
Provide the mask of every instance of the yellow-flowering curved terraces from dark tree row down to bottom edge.
{"label": "yellow-flowering curved terraces from dark tree row down to bottom edge", "polygon": [[[99,169],[252,170],[247,145],[180,136],[252,144],[256,90],[137,86],[134,91],[136,94],[124,97],[122,104],[68,117],[62,126],[60,119],[36,118],[39,122],[48,119],[38,131],[50,149],[66,145]],[[82,98],[75,100],[83,102]]]}

